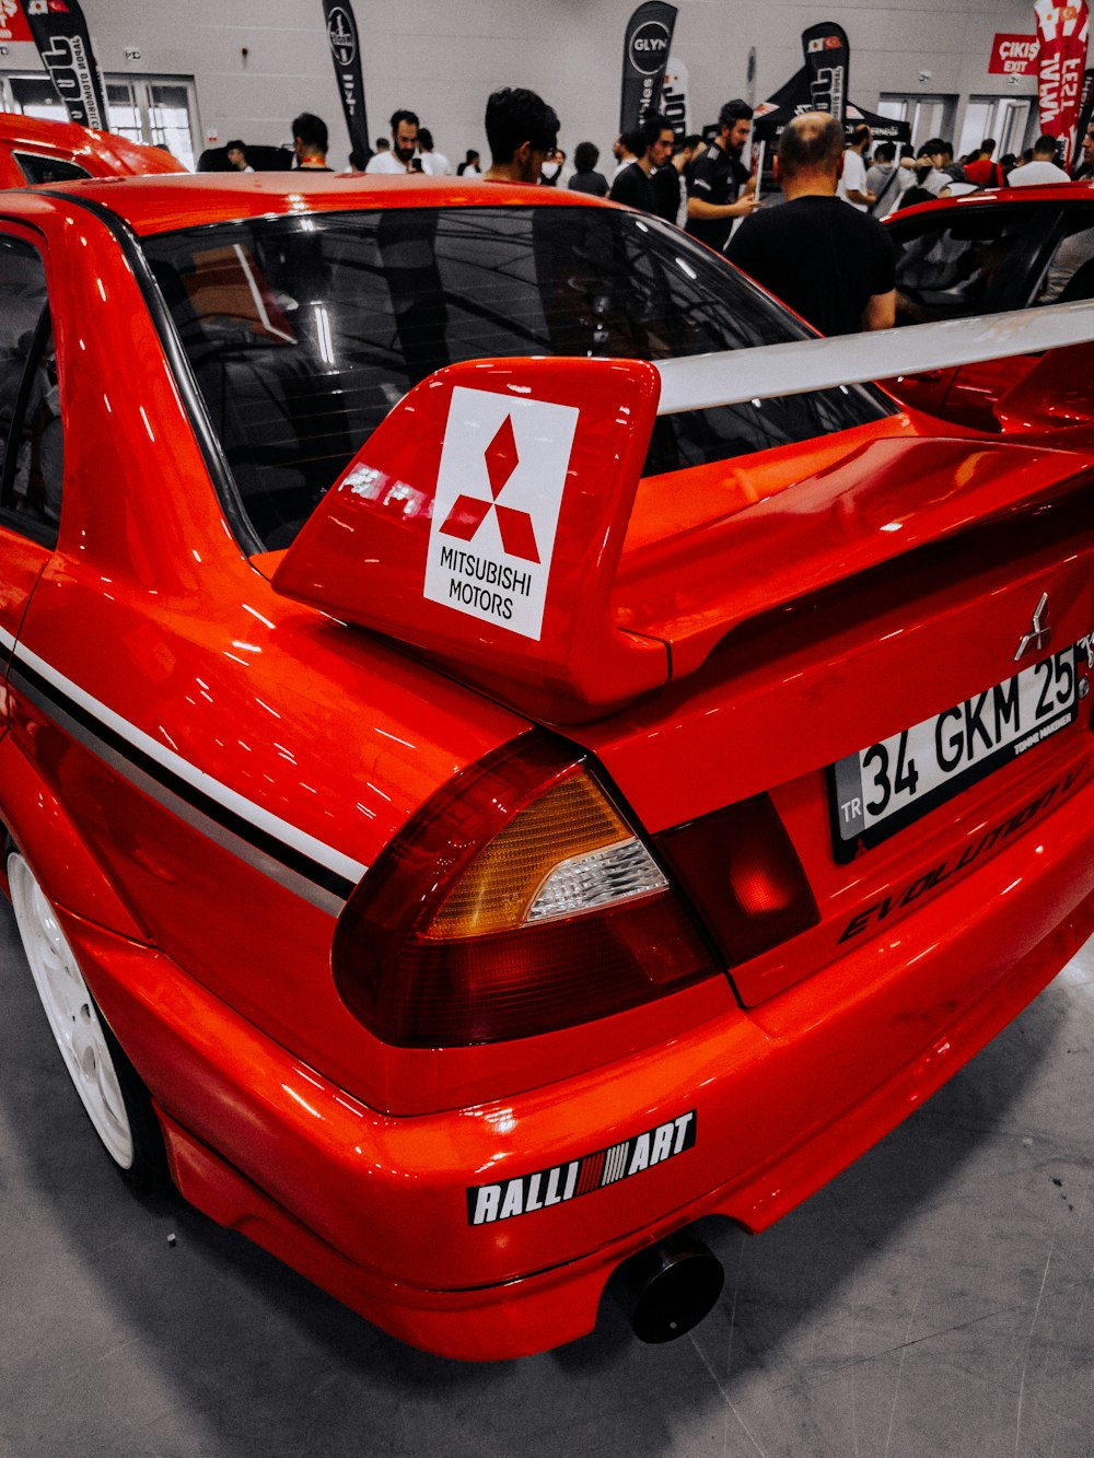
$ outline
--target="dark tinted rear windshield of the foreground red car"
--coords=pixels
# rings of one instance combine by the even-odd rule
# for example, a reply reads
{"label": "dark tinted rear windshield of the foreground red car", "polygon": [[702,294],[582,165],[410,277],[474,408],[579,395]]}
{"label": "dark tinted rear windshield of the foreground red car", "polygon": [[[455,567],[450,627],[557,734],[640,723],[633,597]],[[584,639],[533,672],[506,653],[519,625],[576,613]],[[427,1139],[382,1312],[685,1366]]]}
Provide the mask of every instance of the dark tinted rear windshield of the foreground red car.
{"label": "dark tinted rear windshield of the foreground red car", "polygon": [[[411,385],[494,356],[661,360],[810,331],[686,235],[614,208],[389,208],[144,242],[255,534],[287,547]],[[646,474],[877,420],[840,388],[658,420]]]}

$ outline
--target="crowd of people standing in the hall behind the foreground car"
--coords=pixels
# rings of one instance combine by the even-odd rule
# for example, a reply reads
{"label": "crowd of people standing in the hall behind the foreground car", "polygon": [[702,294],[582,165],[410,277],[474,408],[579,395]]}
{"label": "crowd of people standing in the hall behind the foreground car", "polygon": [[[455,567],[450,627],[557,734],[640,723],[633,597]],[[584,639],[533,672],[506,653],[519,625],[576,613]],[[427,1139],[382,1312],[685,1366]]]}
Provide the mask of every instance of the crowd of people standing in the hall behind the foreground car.
{"label": "crowd of people standing in the hall behind the foreground car", "polygon": [[[454,169],[413,111],[391,117],[389,137],[372,156],[350,156],[347,171],[424,174],[494,182],[534,182],[607,197],[686,227],[783,299],[821,334],[890,328],[896,319],[896,261],[881,220],[900,208],[989,187],[1030,187],[1072,178],[1059,163],[1055,137],[1041,136],[1021,157],[996,160],[988,137],[960,160],[953,144],[932,137],[918,150],[891,141],[872,146],[869,127],[845,140],[827,112],[805,112],[782,131],[776,176],[780,206],[761,206],[756,176],[742,162],[753,109],[726,102],[706,136],[680,139],[661,112],[613,144],[611,175],[598,171],[600,149],[578,144],[573,165],[559,147],[559,117],[535,92],[503,87],[486,106],[490,163],[468,150]],[[293,120],[295,165],[333,171],[319,117]],[[230,141],[228,160],[251,171],[247,147]],[[1082,139],[1076,178],[1094,178],[1094,124]]]}

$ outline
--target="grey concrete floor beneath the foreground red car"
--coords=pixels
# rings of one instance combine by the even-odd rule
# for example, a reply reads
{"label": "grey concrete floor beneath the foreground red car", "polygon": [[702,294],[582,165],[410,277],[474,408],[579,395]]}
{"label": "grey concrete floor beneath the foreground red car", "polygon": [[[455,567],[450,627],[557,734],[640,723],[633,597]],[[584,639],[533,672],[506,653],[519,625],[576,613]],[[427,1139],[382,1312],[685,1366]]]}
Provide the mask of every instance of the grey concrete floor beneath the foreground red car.
{"label": "grey concrete floor beneath the foreground red car", "polygon": [[[681,1341],[423,1356],[130,1198],[0,911],[0,1458],[1091,1458],[1094,942]],[[168,1235],[175,1244],[168,1244]]]}

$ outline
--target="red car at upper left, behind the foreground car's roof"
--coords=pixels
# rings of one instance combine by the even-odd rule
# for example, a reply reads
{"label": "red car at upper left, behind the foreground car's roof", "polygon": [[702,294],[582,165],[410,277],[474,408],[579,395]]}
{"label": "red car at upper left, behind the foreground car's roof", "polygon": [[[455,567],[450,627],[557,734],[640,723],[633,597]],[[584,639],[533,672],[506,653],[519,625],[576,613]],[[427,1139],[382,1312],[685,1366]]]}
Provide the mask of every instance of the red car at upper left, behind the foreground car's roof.
{"label": "red car at upper left, behind the foreground car's roof", "polygon": [[162,147],[71,121],[0,112],[0,187],[185,171]]}

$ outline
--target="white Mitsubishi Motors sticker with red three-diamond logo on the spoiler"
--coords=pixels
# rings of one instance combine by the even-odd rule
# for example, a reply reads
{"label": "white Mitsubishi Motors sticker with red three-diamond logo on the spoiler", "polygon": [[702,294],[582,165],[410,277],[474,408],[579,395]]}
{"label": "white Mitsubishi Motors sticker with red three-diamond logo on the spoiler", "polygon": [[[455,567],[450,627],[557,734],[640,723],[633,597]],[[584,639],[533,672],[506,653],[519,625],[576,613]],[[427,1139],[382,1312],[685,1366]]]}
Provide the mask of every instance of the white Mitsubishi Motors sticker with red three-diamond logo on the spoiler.
{"label": "white Mitsubishi Motors sticker with red three-diamond logo on the spoiler", "polygon": [[537,639],[578,411],[452,391],[424,596]]}

